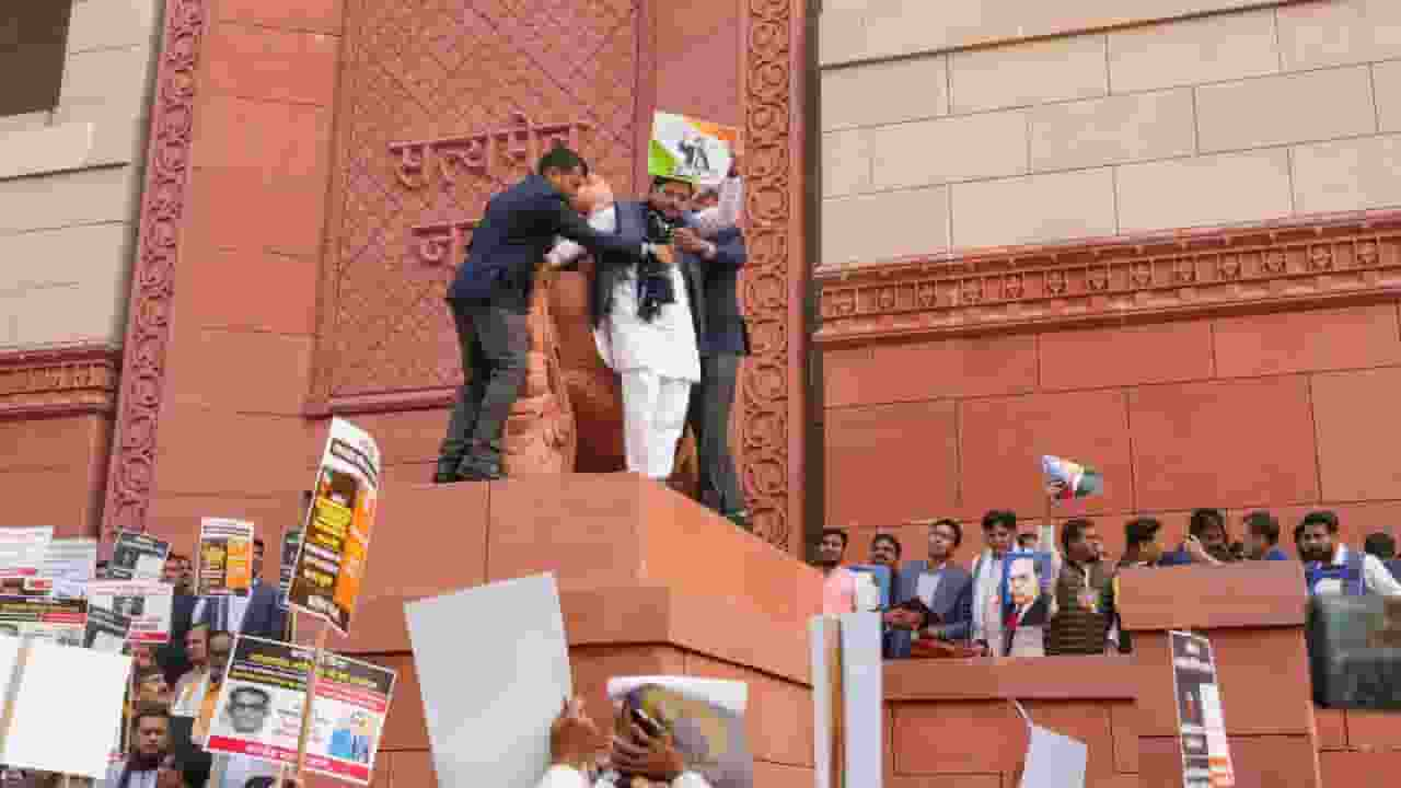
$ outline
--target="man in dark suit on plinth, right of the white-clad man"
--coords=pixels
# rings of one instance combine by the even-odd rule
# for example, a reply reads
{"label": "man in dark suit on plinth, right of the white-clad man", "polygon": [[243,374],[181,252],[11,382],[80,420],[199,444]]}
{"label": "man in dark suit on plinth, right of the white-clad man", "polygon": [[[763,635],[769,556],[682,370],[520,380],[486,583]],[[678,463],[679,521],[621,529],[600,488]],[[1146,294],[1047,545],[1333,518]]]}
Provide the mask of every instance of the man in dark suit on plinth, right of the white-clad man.
{"label": "man in dark suit on plinth, right of the white-clad man", "polygon": [[[737,179],[737,164],[730,167],[730,178]],[[734,470],[730,451],[730,411],[740,363],[750,355],[750,331],[740,311],[740,269],[748,261],[744,231],[726,227],[715,238],[705,240],[692,230],[678,230],[677,248],[695,255],[705,273],[702,290],[705,304],[705,335],[700,345],[700,383],[691,391],[686,423],[696,437],[696,460],[700,467],[700,502],[750,530],[750,512],[744,499],[740,475]]]}

